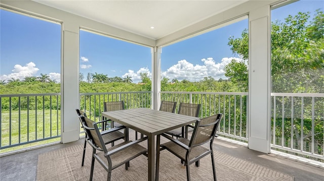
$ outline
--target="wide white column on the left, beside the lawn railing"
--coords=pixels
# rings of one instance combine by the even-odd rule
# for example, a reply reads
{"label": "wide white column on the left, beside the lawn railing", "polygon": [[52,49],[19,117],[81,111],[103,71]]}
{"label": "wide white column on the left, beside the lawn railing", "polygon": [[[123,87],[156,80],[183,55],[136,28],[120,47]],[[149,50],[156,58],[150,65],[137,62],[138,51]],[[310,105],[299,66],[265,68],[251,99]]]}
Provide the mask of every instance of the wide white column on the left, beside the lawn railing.
{"label": "wide white column on the left, beside the lawn railing", "polygon": [[63,23],[63,55],[61,63],[61,141],[79,139],[79,27],[73,22]]}

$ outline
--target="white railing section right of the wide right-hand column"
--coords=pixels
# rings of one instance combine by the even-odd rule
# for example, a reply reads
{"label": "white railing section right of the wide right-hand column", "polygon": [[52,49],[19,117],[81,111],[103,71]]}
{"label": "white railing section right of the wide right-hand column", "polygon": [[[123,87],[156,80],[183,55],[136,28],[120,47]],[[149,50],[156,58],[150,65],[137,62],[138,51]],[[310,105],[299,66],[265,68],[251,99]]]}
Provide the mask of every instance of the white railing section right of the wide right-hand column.
{"label": "white railing section right of the wide right-hand column", "polygon": [[324,94],[271,93],[271,147],[324,159]]}

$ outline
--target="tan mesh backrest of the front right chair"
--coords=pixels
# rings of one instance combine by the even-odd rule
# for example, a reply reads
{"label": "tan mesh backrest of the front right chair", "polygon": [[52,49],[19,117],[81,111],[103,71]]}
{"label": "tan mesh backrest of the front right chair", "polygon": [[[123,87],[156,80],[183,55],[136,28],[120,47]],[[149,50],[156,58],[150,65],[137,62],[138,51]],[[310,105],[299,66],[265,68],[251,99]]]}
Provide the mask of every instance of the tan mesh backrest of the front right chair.
{"label": "tan mesh backrest of the front right chair", "polygon": [[203,145],[214,140],[222,114],[215,114],[196,121],[189,147]]}

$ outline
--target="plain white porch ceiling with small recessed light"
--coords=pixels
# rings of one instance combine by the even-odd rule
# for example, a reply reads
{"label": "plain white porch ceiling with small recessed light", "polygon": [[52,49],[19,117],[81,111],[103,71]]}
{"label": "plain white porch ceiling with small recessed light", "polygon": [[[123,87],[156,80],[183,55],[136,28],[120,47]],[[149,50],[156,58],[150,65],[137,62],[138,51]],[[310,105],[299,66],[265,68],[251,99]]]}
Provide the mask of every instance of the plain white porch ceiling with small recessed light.
{"label": "plain white porch ceiling with small recessed light", "polygon": [[249,0],[32,1],[156,40]]}

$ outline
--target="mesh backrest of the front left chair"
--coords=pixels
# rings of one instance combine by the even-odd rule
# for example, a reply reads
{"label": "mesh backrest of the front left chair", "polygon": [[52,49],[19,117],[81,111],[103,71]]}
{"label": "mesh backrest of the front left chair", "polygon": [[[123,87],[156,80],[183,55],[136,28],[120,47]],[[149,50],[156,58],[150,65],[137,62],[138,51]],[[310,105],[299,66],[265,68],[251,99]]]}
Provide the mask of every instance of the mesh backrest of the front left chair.
{"label": "mesh backrest of the front left chair", "polygon": [[80,119],[92,145],[96,146],[97,149],[99,148],[100,150],[106,153],[107,148],[101,137],[97,123],[89,119],[88,117],[82,115],[80,116]]}

